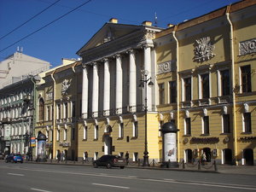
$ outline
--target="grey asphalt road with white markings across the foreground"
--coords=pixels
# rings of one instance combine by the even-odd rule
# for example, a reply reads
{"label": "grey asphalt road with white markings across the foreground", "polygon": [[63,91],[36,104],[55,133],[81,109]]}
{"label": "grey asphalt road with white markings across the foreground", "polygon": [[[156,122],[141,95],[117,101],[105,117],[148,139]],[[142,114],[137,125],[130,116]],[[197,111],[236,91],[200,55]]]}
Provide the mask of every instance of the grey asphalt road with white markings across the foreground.
{"label": "grey asphalt road with white markings across the foreground", "polygon": [[256,176],[0,162],[2,192],[256,191]]}

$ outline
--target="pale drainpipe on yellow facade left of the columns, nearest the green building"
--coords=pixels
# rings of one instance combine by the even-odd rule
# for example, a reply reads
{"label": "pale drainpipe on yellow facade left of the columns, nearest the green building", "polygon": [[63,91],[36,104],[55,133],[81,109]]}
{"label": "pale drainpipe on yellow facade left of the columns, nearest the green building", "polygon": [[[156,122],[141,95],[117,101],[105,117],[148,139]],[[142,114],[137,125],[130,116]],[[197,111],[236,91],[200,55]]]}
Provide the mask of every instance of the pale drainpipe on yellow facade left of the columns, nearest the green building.
{"label": "pale drainpipe on yellow facade left of the columns, nearest the green building", "polygon": [[51,159],[55,158],[55,89],[56,89],[56,81],[54,78],[54,74],[55,74],[55,71],[50,74],[50,77],[54,82],[53,96],[52,96],[52,99],[53,99],[53,102],[52,102],[53,103],[53,107],[52,107],[52,126],[53,126],[52,137],[53,137],[53,140],[52,140],[52,157],[51,157]]}

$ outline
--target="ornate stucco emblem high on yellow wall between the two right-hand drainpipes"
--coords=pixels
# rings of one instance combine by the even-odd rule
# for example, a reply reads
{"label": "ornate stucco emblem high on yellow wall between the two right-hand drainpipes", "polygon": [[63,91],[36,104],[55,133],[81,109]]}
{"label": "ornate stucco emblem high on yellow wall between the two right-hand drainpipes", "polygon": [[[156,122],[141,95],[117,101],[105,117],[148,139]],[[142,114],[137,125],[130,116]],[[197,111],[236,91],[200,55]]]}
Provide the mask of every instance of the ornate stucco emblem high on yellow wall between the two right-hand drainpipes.
{"label": "ornate stucco emblem high on yellow wall between the two right-hand drainpipes", "polygon": [[215,49],[215,46],[211,43],[211,38],[200,38],[198,40],[195,40],[195,61],[201,62],[201,61],[208,61],[212,59],[215,54],[213,53],[213,49]]}

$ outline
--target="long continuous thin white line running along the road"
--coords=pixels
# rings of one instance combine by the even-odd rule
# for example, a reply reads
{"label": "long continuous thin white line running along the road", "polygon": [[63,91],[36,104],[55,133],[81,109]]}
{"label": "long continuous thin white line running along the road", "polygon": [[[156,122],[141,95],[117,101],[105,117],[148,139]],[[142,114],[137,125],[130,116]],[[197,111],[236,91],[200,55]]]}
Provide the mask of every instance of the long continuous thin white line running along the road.
{"label": "long continuous thin white line running along the road", "polygon": [[[1,168],[1,167],[0,167]],[[17,169],[11,167],[10,169]],[[72,175],[81,175],[81,176],[92,176],[92,177],[113,177],[113,178],[124,178],[124,179],[133,179],[133,180],[141,180],[141,181],[152,181],[152,182],[160,182],[160,183],[183,183],[183,184],[189,184],[189,185],[199,185],[199,186],[209,186],[209,187],[218,187],[218,188],[230,188],[230,189],[247,189],[247,190],[256,190],[256,186],[252,185],[238,185],[238,184],[232,184],[232,183],[201,183],[199,181],[191,182],[191,181],[177,181],[177,180],[160,180],[160,179],[154,179],[154,178],[140,178],[140,177],[125,177],[125,176],[111,176],[111,175],[101,175],[101,174],[88,174],[88,173],[82,173],[82,172],[61,172],[61,171],[50,171],[50,170],[40,170],[40,169],[24,169],[20,168],[20,170],[27,170],[32,172],[54,172],[54,173],[63,173],[63,174],[72,174]],[[226,186],[224,185],[226,184]]]}

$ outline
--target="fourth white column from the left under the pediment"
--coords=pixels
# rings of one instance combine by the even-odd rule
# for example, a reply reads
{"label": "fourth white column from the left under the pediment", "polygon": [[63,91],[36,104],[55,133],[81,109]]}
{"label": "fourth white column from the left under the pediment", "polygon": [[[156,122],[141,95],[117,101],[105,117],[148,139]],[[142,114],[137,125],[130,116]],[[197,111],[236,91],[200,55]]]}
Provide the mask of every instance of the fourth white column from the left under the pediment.
{"label": "fourth white column from the left under the pediment", "polygon": [[115,89],[115,108],[119,108],[116,113],[122,113],[122,98],[123,98],[123,72],[121,56],[116,56],[116,89]]}

